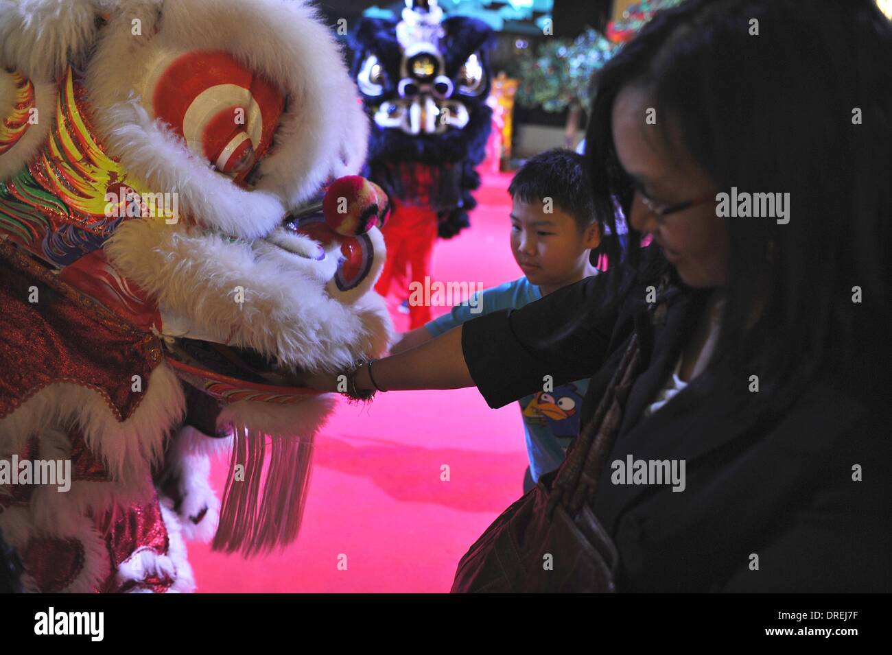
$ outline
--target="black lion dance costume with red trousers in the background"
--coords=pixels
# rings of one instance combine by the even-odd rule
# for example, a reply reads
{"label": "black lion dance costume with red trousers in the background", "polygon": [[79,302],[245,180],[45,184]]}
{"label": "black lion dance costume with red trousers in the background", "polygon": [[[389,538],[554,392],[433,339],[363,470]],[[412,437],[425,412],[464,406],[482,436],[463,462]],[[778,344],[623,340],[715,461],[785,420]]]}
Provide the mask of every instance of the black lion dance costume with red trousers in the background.
{"label": "black lion dance costume with red trousers in the background", "polygon": [[[372,122],[366,176],[390,194],[387,261],[376,283],[386,296],[410,270],[424,283],[437,236],[468,227],[480,185],[492,111],[492,30],[480,20],[442,17],[436,0],[406,0],[402,20],[368,18],[351,34],[351,74]],[[401,290],[407,293],[405,288]],[[409,307],[412,329],[429,307]]]}

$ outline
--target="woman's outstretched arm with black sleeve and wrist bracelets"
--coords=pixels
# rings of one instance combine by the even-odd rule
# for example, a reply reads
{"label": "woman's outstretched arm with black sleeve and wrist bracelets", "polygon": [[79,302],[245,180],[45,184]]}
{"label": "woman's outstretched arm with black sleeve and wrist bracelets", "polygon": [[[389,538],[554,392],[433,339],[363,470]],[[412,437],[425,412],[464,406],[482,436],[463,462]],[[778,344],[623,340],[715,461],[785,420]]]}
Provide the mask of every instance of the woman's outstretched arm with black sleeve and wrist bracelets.
{"label": "woman's outstretched arm with black sleeve and wrist bracelets", "polygon": [[[643,294],[643,291],[642,291]],[[476,387],[491,407],[554,384],[588,378],[607,355],[621,296],[607,275],[592,275],[520,309],[483,314],[434,340],[378,360],[372,373],[379,389],[460,389]],[[297,382],[311,389],[344,391],[338,376],[323,373]],[[368,366],[356,388],[374,389]]]}

